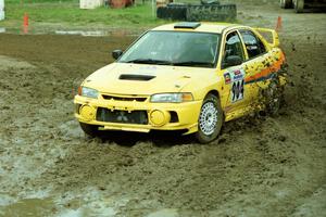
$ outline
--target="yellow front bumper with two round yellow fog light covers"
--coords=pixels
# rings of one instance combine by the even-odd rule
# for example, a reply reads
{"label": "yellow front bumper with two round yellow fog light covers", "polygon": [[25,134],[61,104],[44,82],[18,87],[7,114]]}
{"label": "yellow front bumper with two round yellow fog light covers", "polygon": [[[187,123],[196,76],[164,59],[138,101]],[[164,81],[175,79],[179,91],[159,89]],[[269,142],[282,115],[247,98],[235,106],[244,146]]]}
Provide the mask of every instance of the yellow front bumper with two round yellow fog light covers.
{"label": "yellow front bumper with two round yellow fog light covers", "polygon": [[[202,101],[150,103],[149,99],[140,102],[136,100],[89,99],[76,95],[74,103],[76,105],[76,118],[80,123],[98,125],[100,130],[138,132],[186,130],[185,135],[187,135],[198,130],[198,117]],[[106,115],[108,113],[112,114],[112,117],[102,117],[103,114]],[[131,114],[138,113],[142,115],[142,120],[138,120],[139,118],[130,119]],[[113,120],[113,118],[115,119]]]}

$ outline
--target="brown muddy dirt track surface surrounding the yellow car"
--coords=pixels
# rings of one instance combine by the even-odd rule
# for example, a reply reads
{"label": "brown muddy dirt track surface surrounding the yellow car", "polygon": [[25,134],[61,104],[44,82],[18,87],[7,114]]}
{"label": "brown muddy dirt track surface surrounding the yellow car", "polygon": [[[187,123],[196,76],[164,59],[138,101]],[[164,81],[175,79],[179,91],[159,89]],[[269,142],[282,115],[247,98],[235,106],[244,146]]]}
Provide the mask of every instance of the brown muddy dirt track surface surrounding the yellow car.
{"label": "brown muddy dirt track surface surrounding the yellow car", "polygon": [[0,216],[325,216],[326,15],[268,7],[241,21],[283,15],[287,103],[208,145],[84,136],[72,87],[133,38],[0,35]]}

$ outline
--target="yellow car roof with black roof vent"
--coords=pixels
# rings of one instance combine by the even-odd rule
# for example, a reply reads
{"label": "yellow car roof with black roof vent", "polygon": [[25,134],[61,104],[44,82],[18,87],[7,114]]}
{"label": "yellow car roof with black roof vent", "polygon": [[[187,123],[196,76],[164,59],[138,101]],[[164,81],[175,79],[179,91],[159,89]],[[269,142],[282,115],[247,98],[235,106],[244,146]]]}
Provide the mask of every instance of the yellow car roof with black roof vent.
{"label": "yellow car roof with black roof vent", "polygon": [[[189,28],[185,27],[183,28],[183,25],[189,26],[189,24],[196,24],[191,22],[183,22],[183,23],[173,23],[173,24],[166,24],[162,26],[158,26],[153,28],[152,30],[172,30],[172,31],[193,31],[193,33],[213,33],[213,34],[222,34],[223,30],[227,28],[238,27],[237,24],[230,24],[230,23],[204,23],[201,22],[198,27]],[[175,26],[178,25],[178,28],[175,28]],[[240,27],[240,26],[239,26]]]}

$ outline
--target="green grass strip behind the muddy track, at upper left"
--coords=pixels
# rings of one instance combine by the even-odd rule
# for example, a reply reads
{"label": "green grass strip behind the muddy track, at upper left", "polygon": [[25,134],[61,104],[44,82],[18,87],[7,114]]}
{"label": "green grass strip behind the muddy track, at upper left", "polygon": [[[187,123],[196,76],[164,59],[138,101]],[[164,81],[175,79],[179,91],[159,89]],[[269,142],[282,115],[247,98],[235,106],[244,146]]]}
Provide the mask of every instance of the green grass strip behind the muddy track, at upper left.
{"label": "green grass strip behind the muddy track, at upper left", "polygon": [[139,28],[156,26],[166,21],[158,20],[152,12],[151,4],[139,3],[126,9],[98,8],[93,10],[79,9],[76,0],[7,0],[5,21],[1,26],[22,26],[25,13],[29,15],[30,24],[53,23],[64,26],[96,27],[105,25],[111,27]]}

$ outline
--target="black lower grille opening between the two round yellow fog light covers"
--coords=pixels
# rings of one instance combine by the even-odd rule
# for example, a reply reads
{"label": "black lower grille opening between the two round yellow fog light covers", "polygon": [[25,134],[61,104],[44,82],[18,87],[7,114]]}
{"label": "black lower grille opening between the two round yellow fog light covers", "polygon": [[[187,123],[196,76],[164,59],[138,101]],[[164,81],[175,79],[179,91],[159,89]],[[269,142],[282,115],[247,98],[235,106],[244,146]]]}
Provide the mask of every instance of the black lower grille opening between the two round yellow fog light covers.
{"label": "black lower grille opening between the two round yellow fog light covers", "polygon": [[146,111],[111,111],[105,107],[98,107],[97,120],[108,123],[123,123],[147,125],[148,115]]}

